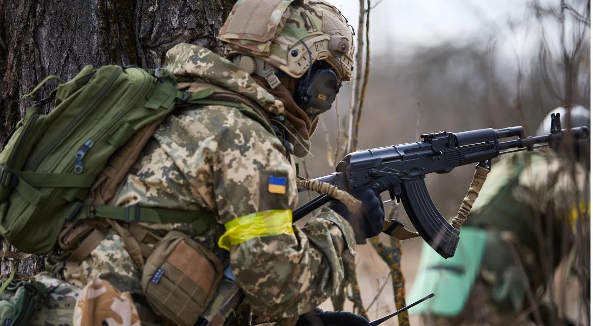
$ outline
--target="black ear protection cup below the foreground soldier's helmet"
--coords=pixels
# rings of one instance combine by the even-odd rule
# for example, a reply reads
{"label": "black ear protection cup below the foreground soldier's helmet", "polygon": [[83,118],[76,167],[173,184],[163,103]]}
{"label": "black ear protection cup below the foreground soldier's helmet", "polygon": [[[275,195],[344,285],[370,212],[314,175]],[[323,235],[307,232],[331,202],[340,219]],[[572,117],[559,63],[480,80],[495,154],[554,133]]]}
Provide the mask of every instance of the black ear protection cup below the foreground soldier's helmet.
{"label": "black ear protection cup below the foreground soldier's helmet", "polygon": [[299,79],[294,100],[313,120],[331,108],[341,86],[333,68],[327,62],[318,61],[313,64],[307,76]]}

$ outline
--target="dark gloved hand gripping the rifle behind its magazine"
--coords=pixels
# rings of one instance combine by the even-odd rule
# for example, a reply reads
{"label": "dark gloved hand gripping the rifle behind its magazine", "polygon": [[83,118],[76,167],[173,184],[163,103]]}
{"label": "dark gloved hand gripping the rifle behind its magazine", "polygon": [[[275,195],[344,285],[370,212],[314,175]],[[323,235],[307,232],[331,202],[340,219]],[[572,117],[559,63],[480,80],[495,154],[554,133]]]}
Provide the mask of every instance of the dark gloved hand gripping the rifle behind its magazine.
{"label": "dark gloved hand gripping the rifle behind its magazine", "polygon": [[356,236],[356,243],[366,244],[367,238],[372,238],[383,230],[385,211],[381,196],[371,188],[354,191],[352,196],[362,202],[358,212],[350,212],[345,204],[335,199],[331,200],[329,207],[350,223]]}

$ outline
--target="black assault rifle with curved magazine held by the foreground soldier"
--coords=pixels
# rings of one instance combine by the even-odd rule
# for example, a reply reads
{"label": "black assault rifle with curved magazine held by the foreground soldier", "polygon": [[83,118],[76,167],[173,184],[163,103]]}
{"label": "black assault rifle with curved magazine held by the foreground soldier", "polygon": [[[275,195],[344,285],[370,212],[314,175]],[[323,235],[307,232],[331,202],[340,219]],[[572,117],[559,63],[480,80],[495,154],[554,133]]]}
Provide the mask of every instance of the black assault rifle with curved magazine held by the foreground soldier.
{"label": "black assault rifle with curved magazine held by the foreground soldier", "polygon": [[[386,202],[401,200],[424,241],[442,257],[449,258],[455,254],[459,231],[447,222],[432,202],[424,183],[426,174],[448,173],[456,167],[473,163],[490,170],[490,160],[500,154],[551,147],[559,143],[564,135],[572,135],[573,139],[588,138],[587,127],[561,129],[559,114],[552,116],[549,135],[526,138],[521,126],[428,133],[420,136],[420,142],[350,153],[339,162],[336,172],[314,180],[333,184],[348,192],[365,187],[375,188],[378,193],[389,191],[390,200]],[[516,139],[501,141],[507,138]],[[298,207],[293,212],[293,220],[302,218],[330,200],[330,196],[321,194]]]}

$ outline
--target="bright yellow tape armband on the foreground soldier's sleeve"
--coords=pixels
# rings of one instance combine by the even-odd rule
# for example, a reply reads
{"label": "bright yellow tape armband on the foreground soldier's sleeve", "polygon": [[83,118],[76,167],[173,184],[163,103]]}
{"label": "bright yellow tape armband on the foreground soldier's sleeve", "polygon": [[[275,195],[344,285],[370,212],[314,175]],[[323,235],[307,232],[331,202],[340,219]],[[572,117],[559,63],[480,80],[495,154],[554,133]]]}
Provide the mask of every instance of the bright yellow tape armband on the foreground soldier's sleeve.
{"label": "bright yellow tape armband on the foreground soldier's sleeve", "polygon": [[232,245],[262,236],[294,234],[292,229],[292,210],[264,210],[241,216],[225,223],[227,232],[218,239],[218,247],[231,250]]}

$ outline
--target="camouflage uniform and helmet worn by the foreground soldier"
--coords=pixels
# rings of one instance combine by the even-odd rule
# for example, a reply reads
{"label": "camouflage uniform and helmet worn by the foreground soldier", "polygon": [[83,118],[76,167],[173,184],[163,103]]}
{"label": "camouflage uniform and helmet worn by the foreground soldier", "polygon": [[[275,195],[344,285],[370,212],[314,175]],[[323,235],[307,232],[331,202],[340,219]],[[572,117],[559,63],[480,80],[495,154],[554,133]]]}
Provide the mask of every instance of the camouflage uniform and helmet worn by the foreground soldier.
{"label": "camouflage uniform and helmet worn by the foreground soldier", "polygon": [[[186,83],[189,92],[196,92],[197,85],[212,85],[231,95],[222,100],[226,102],[186,103],[176,108],[155,130],[119,193],[108,203],[196,211],[202,222],[135,223],[136,229],[139,226],[152,239],[139,244],[130,241],[126,233],[132,232],[131,226],[109,220],[103,240],[84,260],[64,264],[68,253],[48,260],[47,266],[67,282],[78,288],[86,286],[83,293],[87,296],[98,289],[111,289],[110,285],[114,294],[107,300],[127,302],[131,295],[136,309],[115,312],[114,320],[138,314],[143,324],[163,324],[152,314],[142,293],[139,266],[146,252],[170,231],[189,235],[230,266],[225,277],[236,279],[244,298],[244,304],[235,307],[237,321],[233,324],[275,320],[294,324],[299,315],[329,298],[342,282],[344,255],[352,259],[356,253],[351,226],[332,210],[321,210],[302,229],[291,225],[298,200],[292,155],[308,154],[314,130],[310,118],[314,118],[292,100],[289,93],[294,84],[276,89],[276,83],[268,79],[283,71],[283,83],[290,82],[286,76],[294,82],[312,62],[325,60],[340,82],[349,80],[354,47],[347,21],[324,1],[244,0],[235,5],[220,39],[228,43],[231,53],[253,56],[246,59],[253,66],[240,65],[241,69],[192,44],[171,49],[164,68],[173,72],[178,82]],[[256,60],[266,60],[266,78],[256,72]],[[260,63],[257,61],[257,67]],[[261,79],[256,81],[251,74]],[[253,104],[249,107],[254,109],[242,111],[235,103],[237,97]],[[283,183],[272,184],[272,180]],[[208,225],[205,218],[200,219],[200,211],[215,213],[215,221]],[[281,232],[263,228],[240,241],[231,239],[229,225],[252,216],[259,216],[263,225],[283,219],[288,228]],[[205,223],[207,227],[203,227]],[[239,231],[253,224],[247,223]],[[227,285],[220,286],[219,292],[228,290]],[[106,301],[85,300],[109,306]],[[219,296],[212,299],[205,312],[208,320],[212,320],[213,305],[220,303]],[[85,309],[85,305],[77,305],[77,322],[92,320],[85,319]]]}

